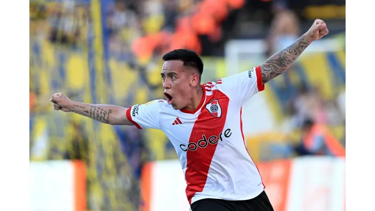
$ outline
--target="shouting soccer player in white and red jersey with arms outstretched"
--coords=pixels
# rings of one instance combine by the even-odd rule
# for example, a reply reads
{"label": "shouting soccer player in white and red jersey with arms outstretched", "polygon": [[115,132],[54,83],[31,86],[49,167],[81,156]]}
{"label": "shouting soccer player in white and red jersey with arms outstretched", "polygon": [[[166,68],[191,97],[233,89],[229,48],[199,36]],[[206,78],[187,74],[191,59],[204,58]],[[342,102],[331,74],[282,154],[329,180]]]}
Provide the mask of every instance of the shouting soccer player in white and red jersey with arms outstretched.
{"label": "shouting soccer player in white and red jersey with arms outstretched", "polygon": [[326,24],[317,19],[301,38],[260,66],[203,85],[203,62],[194,51],[168,52],[161,72],[166,100],[123,108],[74,102],[56,93],[50,101],[55,110],[101,123],[162,130],[177,152],[193,211],[273,210],[246,149],[242,104],[326,34]]}

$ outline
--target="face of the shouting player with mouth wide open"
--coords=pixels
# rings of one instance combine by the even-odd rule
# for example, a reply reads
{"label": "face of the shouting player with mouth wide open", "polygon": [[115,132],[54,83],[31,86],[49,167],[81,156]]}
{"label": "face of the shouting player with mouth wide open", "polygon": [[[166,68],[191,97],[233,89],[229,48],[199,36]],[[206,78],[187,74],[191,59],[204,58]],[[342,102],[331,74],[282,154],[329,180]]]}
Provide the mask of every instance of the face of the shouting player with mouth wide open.
{"label": "face of the shouting player with mouth wide open", "polygon": [[194,93],[192,73],[183,66],[182,61],[171,60],[164,62],[161,76],[168,104],[176,110],[185,108]]}

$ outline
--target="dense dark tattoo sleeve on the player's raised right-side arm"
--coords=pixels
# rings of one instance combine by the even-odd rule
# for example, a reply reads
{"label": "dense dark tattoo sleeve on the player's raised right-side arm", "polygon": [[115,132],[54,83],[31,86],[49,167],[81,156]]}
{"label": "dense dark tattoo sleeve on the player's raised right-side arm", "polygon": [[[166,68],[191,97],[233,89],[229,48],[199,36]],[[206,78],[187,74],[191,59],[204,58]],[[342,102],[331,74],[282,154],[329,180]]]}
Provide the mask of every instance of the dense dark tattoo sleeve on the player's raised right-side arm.
{"label": "dense dark tattoo sleeve on the player's raised right-side arm", "polygon": [[302,36],[289,47],[267,59],[260,66],[263,84],[284,73],[310,44],[311,41]]}

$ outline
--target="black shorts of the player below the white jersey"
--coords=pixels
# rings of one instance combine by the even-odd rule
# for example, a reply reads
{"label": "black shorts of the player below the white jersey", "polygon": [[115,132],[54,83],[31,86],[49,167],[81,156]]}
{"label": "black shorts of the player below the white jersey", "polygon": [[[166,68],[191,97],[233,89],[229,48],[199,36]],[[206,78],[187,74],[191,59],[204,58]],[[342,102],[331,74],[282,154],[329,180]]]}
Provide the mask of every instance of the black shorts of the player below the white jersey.
{"label": "black shorts of the player below the white jersey", "polygon": [[257,197],[243,201],[201,199],[191,205],[192,211],[274,211],[265,191]]}

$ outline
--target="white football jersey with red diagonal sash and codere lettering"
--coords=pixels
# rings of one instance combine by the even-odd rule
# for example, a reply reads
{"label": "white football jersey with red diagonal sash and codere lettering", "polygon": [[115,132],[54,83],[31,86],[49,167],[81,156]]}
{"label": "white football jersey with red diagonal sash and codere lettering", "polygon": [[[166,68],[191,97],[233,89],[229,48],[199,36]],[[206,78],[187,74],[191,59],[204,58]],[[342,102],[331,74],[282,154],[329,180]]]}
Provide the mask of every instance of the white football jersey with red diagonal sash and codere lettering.
{"label": "white football jersey with red diagonal sash and codere lettering", "polygon": [[195,111],[174,110],[166,100],[154,100],[130,107],[127,118],[139,129],[156,128],[167,135],[180,160],[190,204],[204,198],[254,198],[265,187],[246,149],[241,114],[242,104],[264,90],[260,66],[202,88]]}

